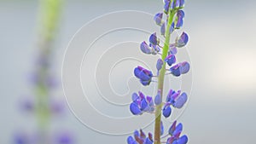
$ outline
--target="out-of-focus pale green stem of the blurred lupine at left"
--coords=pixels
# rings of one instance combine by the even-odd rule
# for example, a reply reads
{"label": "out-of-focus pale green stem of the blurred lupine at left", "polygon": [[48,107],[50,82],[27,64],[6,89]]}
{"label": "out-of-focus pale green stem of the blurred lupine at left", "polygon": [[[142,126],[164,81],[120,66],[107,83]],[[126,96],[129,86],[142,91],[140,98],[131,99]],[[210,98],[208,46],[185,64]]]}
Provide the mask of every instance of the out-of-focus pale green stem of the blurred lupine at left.
{"label": "out-of-focus pale green stem of the blurred lupine at left", "polygon": [[[53,52],[52,44],[55,40],[55,32],[59,24],[60,11],[61,0],[40,1],[38,53],[40,57],[43,57],[44,62],[46,61],[47,63],[49,63],[50,55]],[[37,72],[39,80],[35,86],[35,94],[37,96],[36,114],[40,135],[44,137],[44,135],[47,135],[46,130],[48,130],[50,118],[49,88],[45,84],[45,80],[49,78],[49,66],[47,64],[39,64]],[[45,142],[41,141],[42,144],[45,144]]]}

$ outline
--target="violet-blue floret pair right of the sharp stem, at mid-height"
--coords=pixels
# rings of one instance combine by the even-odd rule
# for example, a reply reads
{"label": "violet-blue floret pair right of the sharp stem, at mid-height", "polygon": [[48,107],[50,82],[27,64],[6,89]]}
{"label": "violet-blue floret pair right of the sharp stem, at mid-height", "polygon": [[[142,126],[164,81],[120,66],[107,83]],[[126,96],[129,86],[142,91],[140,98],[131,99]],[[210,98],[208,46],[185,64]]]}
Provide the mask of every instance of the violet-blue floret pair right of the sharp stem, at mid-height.
{"label": "violet-blue floret pair right of the sharp stem, at mid-height", "polygon": [[184,61],[184,62],[178,63],[175,66],[172,66],[170,68],[170,72],[172,72],[173,76],[178,77],[181,74],[185,74],[185,73],[189,72],[189,69],[190,69],[189,62]]}

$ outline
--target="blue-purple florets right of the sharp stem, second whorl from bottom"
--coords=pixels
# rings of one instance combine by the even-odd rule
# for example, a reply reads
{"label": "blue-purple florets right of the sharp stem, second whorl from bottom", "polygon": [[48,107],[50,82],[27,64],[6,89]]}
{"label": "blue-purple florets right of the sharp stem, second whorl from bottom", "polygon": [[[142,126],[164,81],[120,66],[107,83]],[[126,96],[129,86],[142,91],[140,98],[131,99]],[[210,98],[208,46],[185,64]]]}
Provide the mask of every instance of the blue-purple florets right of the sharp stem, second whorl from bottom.
{"label": "blue-purple florets right of the sharp stem, second whorl from bottom", "polygon": [[176,108],[182,108],[183,105],[188,101],[188,96],[186,93],[183,93],[181,95],[180,93],[180,90],[175,92],[174,90],[170,89],[166,97],[166,105],[172,105]]}

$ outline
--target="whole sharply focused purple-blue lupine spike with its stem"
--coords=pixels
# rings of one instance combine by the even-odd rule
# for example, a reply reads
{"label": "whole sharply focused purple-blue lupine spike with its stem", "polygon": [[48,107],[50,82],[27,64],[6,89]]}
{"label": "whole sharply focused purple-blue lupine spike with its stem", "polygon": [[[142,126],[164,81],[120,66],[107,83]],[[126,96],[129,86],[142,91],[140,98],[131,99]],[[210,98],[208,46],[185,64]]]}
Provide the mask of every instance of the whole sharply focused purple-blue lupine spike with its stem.
{"label": "whole sharply focused purple-blue lupine spike with its stem", "polygon": [[166,95],[166,101],[162,101],[165,96],[163,94],[165,76],[172,74],[174,77],[179,77],[188,73],[190,69],[188,61],[177,61],[176,57],[178,49],[183,48],[189,42],[188,34],[182,32],[173,43],[170,43],[172,33],[183,26],[185,17],[183,7],[184,0],[164,0],[164,11],[154,15],[154,22],[160,26],[160,35],[166,39],[165,43],[160,43],[160,37],[154,32],[149,36],[148,43],[143,41],[140,44],[140,49],[144,54],[160,55],[160,58],[156,61],[157,73],[155,75],[143,66],[137,66],[134,69],[134,75],[143,86],[148,86],[154,82],[153,78],[158,78],[159,87],[157,95],[154,97],[145,96],[141,91],[138,94],[132,94],[130,111],[133,115],[141,115],[144,112],[155,114],[154,139],[151,133],[148,133],[147,137],[143,130],[140,132],[136,130],[133,136],[128,137],[128,144],[160,144],[163,143],[161,139],[166,137],[168,137],[164,141],[166,144],[186,144],[188,142],[187,135],[181,135],[183,124],[177,124],[177,121],[172,124],[166,136],[160,137],[164,134],[164,126],[160,120],[161,115],[169,118],[173,108],[180,109],[188,101],[188,95],[185,92],[173,89],[170,89]]}

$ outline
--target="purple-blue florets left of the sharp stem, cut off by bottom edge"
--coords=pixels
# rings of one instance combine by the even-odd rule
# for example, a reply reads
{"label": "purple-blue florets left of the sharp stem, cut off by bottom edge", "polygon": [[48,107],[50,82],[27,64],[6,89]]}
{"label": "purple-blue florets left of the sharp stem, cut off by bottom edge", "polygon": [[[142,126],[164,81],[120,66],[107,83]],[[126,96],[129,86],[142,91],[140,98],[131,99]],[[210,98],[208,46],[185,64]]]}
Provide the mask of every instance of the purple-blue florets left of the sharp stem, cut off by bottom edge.
{"label": "purple-blue florets left of the sharp stem, cut off by bottom edge", "polygon": [[148,137],[144,134],[143,130],[135,131],[134,137],[129,136],[127,138],[127,144],[153,144],[153,136],[148,133]]}

